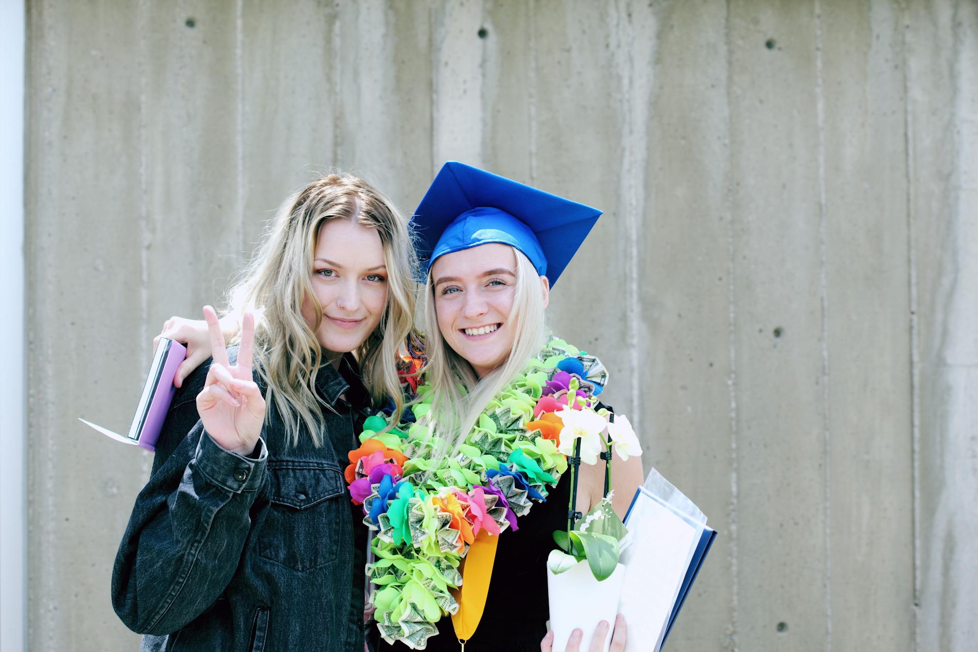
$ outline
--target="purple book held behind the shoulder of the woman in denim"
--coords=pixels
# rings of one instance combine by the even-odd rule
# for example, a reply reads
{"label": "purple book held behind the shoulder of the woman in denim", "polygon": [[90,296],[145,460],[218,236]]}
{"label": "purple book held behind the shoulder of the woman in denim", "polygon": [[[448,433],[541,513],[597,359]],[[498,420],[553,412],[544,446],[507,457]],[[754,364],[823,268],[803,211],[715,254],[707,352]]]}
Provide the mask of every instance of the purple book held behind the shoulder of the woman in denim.
{"label": "purple book held behind the shoulder of the woman in denim", "polygon": [[166,412],[170,409],[170,402],[173,401],[177,391],[173,386],[173,376],[176,375],[180,363],[186,358],[187,349],[183,344],[167,337],[159,338],[153,364],[150,365],[150,373],[143,386],[143,394],[139,399],[139,406],[136,408],[136,415],[133,416],[132,425],[129,426],[127,437],[83,418],[79,420],[116,441],[142,446],[148,451],[156,451],[159,431],[163,428]]}

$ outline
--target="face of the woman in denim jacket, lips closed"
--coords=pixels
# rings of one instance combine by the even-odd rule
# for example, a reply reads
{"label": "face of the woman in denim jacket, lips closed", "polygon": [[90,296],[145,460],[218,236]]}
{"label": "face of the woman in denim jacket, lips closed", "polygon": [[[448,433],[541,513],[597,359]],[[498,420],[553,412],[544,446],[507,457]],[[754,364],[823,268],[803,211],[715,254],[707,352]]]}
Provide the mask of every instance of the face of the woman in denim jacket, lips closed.
{"label": "face of the woman in denim jacket, lips closed", "polygon": [[[329,220],[319,230],[313,256],[310,284],[322,315],[316,339],[333,353],[354,351],[377,329],[387,306],[378,232],[347,219]],[[302,317],[315,328],[316,305],[309,297]]]}

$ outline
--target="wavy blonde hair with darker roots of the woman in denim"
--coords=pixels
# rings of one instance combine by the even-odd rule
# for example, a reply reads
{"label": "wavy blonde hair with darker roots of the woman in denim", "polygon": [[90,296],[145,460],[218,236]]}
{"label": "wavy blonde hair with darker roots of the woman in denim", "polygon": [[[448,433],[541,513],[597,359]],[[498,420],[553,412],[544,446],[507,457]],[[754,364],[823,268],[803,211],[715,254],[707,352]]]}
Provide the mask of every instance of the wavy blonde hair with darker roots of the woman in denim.
{"label": "wavy blonde hair with darker roots of the woman in denim", "polygon": [[[266,401],[278,411],[292,444],[303,427],[322,444],[323,408],[316,376],[325,361],[316,330],[322,307],[312,288],[316,240],[327,222],[351,220],[376,229],[387,267],[387,305],[373,333],[354,351],[364,385],[375,403],[390,397],[403,409],[395,362],[414,327],[417,258],[407,219],[385,196],[350,174],[320,177],[289,196],[269,225],[259,253],[230,292],[231,310],[260,314],[255,325],[256,369],[268,385]],[[315,306],[316,323],[302,317],[302,303]]]}

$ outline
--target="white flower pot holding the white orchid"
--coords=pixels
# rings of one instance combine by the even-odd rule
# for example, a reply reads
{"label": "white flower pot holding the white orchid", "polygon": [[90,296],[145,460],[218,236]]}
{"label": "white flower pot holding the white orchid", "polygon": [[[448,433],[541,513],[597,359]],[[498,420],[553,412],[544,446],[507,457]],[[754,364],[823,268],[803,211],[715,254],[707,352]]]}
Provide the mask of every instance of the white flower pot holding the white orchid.
{"label": "white flower pot holding the white orchid", "polygon": [[601,647],[607,652],[611,645],[611,630],[618,614],[618,599],[625,582],[625,567],[614,569],[604,582],[591,573],[588,561],[579,561],[569,571],[554,575],[547,569],[547,588],[550,593],[551,630],[554,630],[554,652],[564,652],[567,638],[575,628],[584,631],[581,649],[587,650],[591,637],[601,621],[610,626]]}

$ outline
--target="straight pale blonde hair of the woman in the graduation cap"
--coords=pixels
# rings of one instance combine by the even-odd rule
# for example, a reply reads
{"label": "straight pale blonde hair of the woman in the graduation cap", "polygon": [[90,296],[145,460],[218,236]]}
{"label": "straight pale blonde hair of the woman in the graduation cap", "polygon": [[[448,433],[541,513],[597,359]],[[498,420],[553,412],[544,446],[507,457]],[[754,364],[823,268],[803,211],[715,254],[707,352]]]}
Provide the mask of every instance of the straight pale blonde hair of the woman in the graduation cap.
{"label": "straight pale blonde hair of the woman in the graduation cap", "polygon": [[516,283],[512,310],[507,326],[516,329],[512,351],[506,362],[479,378],[465,358],[456,353],[438,329],[434,306],[434,281],[429,273],[424,292],[424,320],[427,337],[425,349],[428,362],[427,382],[432,387],[430,412],[422,424],[431,430],[435,444],[430,456],[432,468],[445,457],[454,457],[465,443],[479,414],[512,379],[526,368],[547,343],[547,326],[543,287],[533,263],[518,249],[516,254]]}

